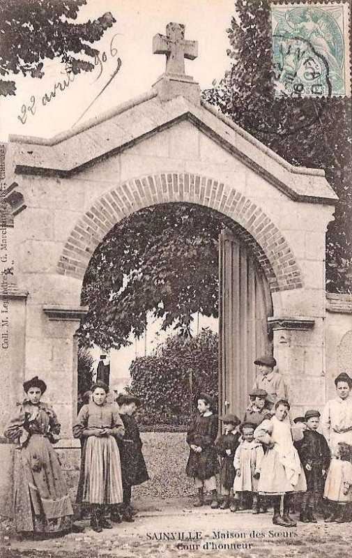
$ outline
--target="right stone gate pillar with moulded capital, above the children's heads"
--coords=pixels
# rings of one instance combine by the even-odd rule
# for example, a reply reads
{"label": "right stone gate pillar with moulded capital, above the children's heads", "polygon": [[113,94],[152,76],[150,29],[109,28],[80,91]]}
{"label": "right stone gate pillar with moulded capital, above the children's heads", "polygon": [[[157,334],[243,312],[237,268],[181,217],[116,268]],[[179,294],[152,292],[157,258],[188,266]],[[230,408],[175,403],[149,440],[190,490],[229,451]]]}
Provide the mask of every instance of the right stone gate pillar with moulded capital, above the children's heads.
{"label": "right stone gate pillar with moulded capital, above the children's heads", "polygon": [[270,317],[278,371],[289,387],[292,416],[326,400],[324,324],[322,318]]}

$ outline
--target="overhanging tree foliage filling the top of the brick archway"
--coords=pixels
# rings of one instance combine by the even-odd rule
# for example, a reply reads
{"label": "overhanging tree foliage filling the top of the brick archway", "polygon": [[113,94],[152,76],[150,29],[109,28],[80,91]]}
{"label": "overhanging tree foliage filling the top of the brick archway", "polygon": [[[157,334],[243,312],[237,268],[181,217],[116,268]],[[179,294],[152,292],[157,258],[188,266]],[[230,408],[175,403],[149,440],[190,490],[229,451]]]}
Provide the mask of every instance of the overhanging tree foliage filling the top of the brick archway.
{"label": "overhanging tree foliage filling the top of the brick archway", "polygon": [[204,206],[160,204],[123,219],[95,250],[84,276],[89,312],[79,334],[102,349],[139,337],[152,312],[187,336],[192,314],[217,317],[218,237],[234,222]]}

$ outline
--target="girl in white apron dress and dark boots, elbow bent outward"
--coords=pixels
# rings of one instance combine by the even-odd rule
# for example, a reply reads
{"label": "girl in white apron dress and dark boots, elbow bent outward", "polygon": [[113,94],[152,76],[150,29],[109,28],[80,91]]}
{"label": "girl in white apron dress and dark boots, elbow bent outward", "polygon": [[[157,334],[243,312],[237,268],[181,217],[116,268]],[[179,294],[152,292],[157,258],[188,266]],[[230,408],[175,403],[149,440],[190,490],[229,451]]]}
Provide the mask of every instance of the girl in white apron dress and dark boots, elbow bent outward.
{"label": "girl in white apron dress and dark boots, elbow bent outward", "polygon": [[[268,448],[261,462],[259,495],[274,496],[273,523],[283,527],[296,527],[289,517],[293,492],[305,492],[307,483],[293,440],[303,439],[299,426],[289,421],[289,403],[279,400],[275,404],[275,415],[263,421],[254,431],[254,439]],[[284,513],[280,515],[280,500],[284,496]]]}

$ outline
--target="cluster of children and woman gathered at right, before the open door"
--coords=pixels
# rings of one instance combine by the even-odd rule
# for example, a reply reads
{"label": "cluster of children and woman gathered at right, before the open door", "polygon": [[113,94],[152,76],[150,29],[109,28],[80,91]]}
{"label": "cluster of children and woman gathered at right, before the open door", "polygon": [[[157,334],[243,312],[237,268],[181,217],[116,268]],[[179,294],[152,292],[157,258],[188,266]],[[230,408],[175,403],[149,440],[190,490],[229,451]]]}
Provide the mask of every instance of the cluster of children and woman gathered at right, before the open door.
{"label": "cluster of children and woman gathered at right, before the open door", "polygon": [[[275,378],[277,372],[270,370],[273,357],[262,357],[256,363],[263,365],[263,361],[266,370],[261,386],[280,386],[286,392],[282,379]],[[271,378],[267,379],[267,375]],[[268,505],[273,505],[273,523],[293,527],[297,525],[289,515],[293,495],[300,494],[301,522],[316,523],[314,508],[322,497],[328,504],[326,522],[351,521],[346,504],[352,502],[352,445],[347,443],[351,442],[352,433],[352,399],[349,396],[352,379],[344,373],[335,379],[339,395],[335,407],[341,416],[331,418],[330,412],[324,411],[324,424],[332,434],[342,437],[337,444],[335,440],[332,451],[326,437],[317,432],[319,411],[309,409],[305,416],[292,421],[289,402],[277,398],[275,387],[268,394],[257,387],[258,383],[260,377],[250,392],[250,407],[242,422],[234,414],[220,416],[224,430],[220,436],[217,436],[212,398],[207,393],[199,395],[199,416],[187,435],[190,455],[186,473],[194,478],[197,488],[194,506],[203,506],[204,492],[210,490],[211,508],[229,508],[236,512],[243,508],[245,495],[251,495],[253,513],[265,513]],[[217,497],[217,473],[220,473],[221,502]]]}

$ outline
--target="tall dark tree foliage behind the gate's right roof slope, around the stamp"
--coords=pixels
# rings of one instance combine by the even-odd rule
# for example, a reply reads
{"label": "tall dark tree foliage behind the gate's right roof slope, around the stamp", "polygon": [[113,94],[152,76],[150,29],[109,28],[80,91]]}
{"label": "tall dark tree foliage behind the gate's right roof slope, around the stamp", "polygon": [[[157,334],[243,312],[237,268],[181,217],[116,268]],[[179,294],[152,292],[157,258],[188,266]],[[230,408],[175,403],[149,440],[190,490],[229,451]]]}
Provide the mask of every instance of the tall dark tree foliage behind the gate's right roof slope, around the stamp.
{"label": "tall dark tree foliage behind the gate's right roof slope, around the stamp", "polygon": [[339,196],[327,232],[327,289],[352,292],[351,100],[275,97],[265,0],[236,0],[227,33],[231,69],[203,96],[292,165],[325,169]]}

